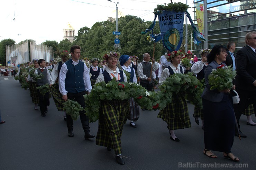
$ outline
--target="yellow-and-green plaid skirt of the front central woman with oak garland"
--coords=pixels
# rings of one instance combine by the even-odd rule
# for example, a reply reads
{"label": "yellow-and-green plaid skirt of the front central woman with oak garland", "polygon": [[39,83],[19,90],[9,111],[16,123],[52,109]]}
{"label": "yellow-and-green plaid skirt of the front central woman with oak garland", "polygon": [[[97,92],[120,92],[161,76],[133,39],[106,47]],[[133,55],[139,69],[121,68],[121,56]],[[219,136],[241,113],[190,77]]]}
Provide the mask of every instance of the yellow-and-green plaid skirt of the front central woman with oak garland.
{"label": "yellow-and-green plaid skirt of the front central woman with oak garland", "polygon": [[101,100],[99,113],[96,145],[112,148],[116,155],[121,154],[122,130],[129,116],[128,100]]}

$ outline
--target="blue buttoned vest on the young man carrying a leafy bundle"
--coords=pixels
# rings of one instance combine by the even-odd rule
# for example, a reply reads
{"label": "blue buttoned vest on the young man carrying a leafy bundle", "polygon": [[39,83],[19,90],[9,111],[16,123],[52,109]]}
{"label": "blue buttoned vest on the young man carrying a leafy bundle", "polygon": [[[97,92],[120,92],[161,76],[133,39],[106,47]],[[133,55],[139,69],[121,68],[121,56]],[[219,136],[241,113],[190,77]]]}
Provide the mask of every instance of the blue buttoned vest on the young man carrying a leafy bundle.
{"label": "blue buttoned vest on the young man carrying a leafy bundle", "polygon": [[65,79],[65,88],[70,93],[80,93],[85,91],[83,72],[84,63],[79,61],[77,65],[72,64],[72,59],[65,62],[67,65],[67,74]]}

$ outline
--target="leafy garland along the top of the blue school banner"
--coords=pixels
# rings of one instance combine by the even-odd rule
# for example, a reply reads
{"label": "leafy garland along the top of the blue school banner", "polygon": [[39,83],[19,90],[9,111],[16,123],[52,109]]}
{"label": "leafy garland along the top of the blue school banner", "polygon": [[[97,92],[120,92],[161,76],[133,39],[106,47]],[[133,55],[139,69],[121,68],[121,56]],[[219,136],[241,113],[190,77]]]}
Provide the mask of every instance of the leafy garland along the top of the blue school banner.
{"label": "leafy garland along the top of the blue school banner", "polygon": [[157,13],[158,11],[160,13],[162,13],[162,11],[166,10],[166,11],[176,11],[176,12],[180,12],[180,11],[186,11],[188,8],[190,8],[188,5],[186,5],[185,3],[182,2],[178,2],[178,3],[168,3],[167,6],[165,5],[157,5],[157,8],[154,9],[154,13]]}

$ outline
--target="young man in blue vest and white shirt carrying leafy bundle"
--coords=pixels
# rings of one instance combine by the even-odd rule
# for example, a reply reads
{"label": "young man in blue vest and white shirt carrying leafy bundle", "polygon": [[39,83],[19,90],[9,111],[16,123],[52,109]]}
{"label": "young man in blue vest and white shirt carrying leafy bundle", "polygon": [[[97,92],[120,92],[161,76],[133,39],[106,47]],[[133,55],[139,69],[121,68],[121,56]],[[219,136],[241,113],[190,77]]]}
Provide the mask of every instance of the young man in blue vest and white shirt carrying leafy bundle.
{"label": "young man in blue vest and white shirt carrying leafy bundle", "polygon": [[[74,45],[71,47],[71,59],[63,63],[59,75],[59,88],[63,95],[64,101],[71,99],[85,107],[83,95],[91,92],[92,86],[90,82],[89,70],[85,63],[79,61],[81,55],[81,47]],[[84,110],[80,111],[80,120],[84,129],[84,138],[94,138],[90,133],[89,118],[85,115]],[[68,136],[73,137],[73,119],[67,115]]]}

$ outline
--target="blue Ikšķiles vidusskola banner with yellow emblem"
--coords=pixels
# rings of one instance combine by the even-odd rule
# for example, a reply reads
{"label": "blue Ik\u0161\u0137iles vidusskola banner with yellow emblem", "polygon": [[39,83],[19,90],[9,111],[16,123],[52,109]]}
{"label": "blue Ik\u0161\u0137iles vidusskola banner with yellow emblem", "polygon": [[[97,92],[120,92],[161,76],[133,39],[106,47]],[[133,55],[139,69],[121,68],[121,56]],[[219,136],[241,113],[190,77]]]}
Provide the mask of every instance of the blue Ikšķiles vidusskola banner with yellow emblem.
{"label": "blue Ik\u0161\u0137iles vidusskola banner with yellow emblem", "polygon": [[158,21],[164,47],[168,51],[177,51],[183,39],[183,22],[185,13],[162,11],[158,13]]}

